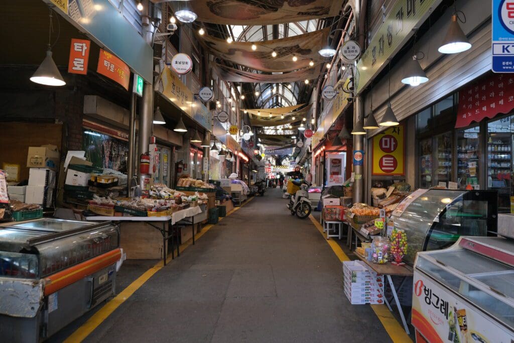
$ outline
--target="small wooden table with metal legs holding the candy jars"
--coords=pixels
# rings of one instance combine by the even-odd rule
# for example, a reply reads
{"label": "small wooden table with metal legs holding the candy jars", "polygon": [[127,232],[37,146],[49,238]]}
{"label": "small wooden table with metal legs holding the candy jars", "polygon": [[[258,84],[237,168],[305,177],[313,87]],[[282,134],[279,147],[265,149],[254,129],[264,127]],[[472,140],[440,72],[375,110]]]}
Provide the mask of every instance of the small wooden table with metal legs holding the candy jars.
{"label": "small wooden table with metal legs holding the candy jars", "polygon": [[[398,309],[398,312],[400,313],[401,323],[403,324],[403,328],[405,329],[405,332],[409,335],[409,326],[407,325],[407,321],[405,320],[405,316],[403,315],[403,310],[401,309],[400,301],[398,300],[398,294],[396,292],[396,289],[393,284],[393,280],[391,279],[391,276],[400,276],[403,277],[401,280],[400,285],[398,286],[398,292],[401,290],[401,287],[403,287],[403,284],[405,284],[405,281],[408,277],[412,277],[414,275],[414,270],[408,266],[408,265],[402,265],[397,266],[391,263],[386,264],[377,264],[373,263],[372,261],[368,261],[364,256],[358,254],[355,251],[355,255],[368,267],[370,267],[373,272],[386,276],[389,286],[391,287],[391,293],[393,293],[393,299],[396,304],[396,307]],[[393,300],[391,299],[391,300]],[[384,302],[388,306],[389,311],[393,312],[393,309],[391,308],[390,301],[384,296]]]}

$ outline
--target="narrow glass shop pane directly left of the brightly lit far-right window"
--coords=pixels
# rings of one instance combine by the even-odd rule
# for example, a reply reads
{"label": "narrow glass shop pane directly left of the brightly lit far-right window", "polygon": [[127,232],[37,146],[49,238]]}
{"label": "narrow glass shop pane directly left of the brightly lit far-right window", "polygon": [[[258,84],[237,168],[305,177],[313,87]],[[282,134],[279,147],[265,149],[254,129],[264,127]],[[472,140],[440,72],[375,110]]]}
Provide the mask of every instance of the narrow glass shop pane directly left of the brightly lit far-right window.
{"label": "narrow glass shop pane directly left of the brightly lit far-right window", "polygon": [[479,187],[480,181],[480,126],[457,130],[458,188]]}

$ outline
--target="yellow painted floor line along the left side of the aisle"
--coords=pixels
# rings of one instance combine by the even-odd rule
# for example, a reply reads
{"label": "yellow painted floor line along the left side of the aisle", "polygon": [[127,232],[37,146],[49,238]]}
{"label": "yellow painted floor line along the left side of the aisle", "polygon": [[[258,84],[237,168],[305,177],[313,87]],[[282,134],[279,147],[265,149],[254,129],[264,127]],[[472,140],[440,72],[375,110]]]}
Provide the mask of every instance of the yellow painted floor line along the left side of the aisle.
{"label": "yellow painted floor line along the left side of the aisle", "polygon": [[[234,213],[244,205],[248,204],[253,199],[249,198],[246,202],[242,203],[240,207],[236,207],[227,213],[227,216]],[[226,217],[225,217],[226,218]],[[223,217],[219,218],[222,220]],[[214,224],[215,225],[215,224]],[[206,225],[200,232],[195,234],[195,241],[209,231],[213,224]],[[185,250],[188,246],[193,244],[193,240],[189,239],[187,242],[180,245],[180,252]],[[171,255],[167,256],[166,263],[171,262]],[[130,298],[139,287],[141,287],[146,281],[148,281],[155,273],[157,273],[164,266],[163,260],[159,261],[156,265],[146,270],[139,278],[128,285],[123,291],[121,291],[116,297],[109,300],[105,305],[102,306],[91,318],[89,318],[80,328],[72,333],[68,338],[64,340],[65,343],[77,343],[83,341],[93,330],[98,328],[100,324],[107,319],[123,302]]]}

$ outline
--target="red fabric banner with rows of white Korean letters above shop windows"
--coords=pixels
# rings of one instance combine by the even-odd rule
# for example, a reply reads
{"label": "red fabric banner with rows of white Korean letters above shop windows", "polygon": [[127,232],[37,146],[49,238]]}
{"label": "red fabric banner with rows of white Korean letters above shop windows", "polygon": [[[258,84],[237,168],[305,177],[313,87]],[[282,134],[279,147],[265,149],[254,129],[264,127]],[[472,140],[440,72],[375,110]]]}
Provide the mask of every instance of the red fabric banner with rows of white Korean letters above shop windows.
{"label": "red fabric banner with rows of white Korean letters above shop windows", "polygon": [[493,74],[473,82],[458,92],[458,111],[455,128],[471,122],[493,118],[514,109],[514,75]]}

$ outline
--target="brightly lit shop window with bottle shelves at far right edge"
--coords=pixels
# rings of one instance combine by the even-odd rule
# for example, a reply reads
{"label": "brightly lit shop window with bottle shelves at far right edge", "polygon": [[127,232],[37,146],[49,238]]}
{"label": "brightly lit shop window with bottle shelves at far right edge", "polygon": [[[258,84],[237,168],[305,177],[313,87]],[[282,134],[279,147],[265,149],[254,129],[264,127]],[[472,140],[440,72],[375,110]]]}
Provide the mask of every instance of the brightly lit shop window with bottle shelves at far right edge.
{"label": "brightly lit shop window with bottle shelves at far right edge", "polygon": [[487,123],[487,188],[498,191],[498,212],[510,212],[514,116]]}

